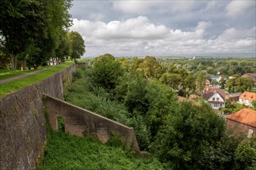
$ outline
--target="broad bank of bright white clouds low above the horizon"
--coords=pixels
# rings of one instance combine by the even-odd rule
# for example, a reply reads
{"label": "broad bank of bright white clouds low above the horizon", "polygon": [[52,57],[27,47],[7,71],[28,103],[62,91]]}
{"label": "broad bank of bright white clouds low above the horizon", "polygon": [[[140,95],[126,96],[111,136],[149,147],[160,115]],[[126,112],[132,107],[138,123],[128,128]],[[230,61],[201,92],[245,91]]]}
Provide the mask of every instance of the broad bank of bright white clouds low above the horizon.
{"label": "broad bank of bright white clouds low above the horizon", "polygon": [[206,39],[211,22],[198,22],[190,31],[155,25],[145,16],[112,22],[74,19],[71,30],[85,37],[85,56],[196,56],[214,53],[255,53],[255,27],[226,29]]}

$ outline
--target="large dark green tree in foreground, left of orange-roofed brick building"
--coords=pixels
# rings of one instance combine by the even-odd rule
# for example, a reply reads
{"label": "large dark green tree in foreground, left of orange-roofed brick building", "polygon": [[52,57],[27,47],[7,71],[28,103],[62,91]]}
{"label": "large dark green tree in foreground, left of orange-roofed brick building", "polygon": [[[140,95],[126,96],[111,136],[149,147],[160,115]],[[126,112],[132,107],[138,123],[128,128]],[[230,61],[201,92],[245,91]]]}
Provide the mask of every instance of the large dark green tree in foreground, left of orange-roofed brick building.
{"label": "large dark green tree in foreground, left of orange-roofed brick building", "polygon": [[175,109],[164,120],[150,148],[174,169],[198,169],[203,151],[223,137],[225,121],[207,105],[182,102]]}

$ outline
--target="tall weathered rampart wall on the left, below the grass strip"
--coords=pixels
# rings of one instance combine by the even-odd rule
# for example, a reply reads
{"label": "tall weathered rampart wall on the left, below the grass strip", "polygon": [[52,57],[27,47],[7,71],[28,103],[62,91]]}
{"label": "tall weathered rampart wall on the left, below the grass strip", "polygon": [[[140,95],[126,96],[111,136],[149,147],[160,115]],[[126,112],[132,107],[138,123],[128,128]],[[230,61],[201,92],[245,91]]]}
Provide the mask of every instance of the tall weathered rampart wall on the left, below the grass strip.
{"label": "tall weathered rampart wall on the left, below the grass strip", "polygon": [[40,83],[0,97],[0,169],[34,169],[43,158],[46,121],[43,93],[64,99],[74,64]]}

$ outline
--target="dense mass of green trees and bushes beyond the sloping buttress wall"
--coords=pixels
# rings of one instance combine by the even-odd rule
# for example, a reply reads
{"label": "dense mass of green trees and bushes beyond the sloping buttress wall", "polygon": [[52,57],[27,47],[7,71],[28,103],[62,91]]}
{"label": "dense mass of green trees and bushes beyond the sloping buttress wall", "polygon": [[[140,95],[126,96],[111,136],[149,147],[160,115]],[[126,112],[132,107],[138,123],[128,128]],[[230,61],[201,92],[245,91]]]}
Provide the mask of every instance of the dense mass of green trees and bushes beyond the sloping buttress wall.
{"label": "dense mass of green trees and bushes beyond the sloping buttress wall", "polygon": [[[82,90],[77,89],[78,85],[71,88],[71,92],[76,92],[72,97],[78,97],[78,104],[85,104],[85,108],[133,126],[140,149],[150,151],[168,168],[255,167],[256,138],[241,142],[226,134],[223,117],[215,114],[208,104],[178,102],[170,84],[160,81],[164,73],[177,69],[165,68],[150,56],[128,61],[106,54],[97,57],[86,70],[87,80],[79,83],[83,84]],[[170,73],[181,76],[178,71],[182,73],[182,70]],[[86,88],[89,92],[83,97],[81,92]],[[69,101],[70,97],[67,95]],[[99,97],[102,98],[94,101]]]}

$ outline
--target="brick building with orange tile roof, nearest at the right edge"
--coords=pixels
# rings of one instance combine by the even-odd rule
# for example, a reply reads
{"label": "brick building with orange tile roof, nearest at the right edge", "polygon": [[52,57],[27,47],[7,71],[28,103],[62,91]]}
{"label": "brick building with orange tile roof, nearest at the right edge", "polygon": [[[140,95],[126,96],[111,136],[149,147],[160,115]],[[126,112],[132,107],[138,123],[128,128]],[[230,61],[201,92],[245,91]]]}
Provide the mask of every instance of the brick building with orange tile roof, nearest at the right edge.
{"label": "brick building with orange tile roof, nearest at the right edge", "polygon": [[227,129],[232,129],[236,133],[243,133],[247,138],[256,134],[256,111],[251,109],[241,109],[227,117]]}

